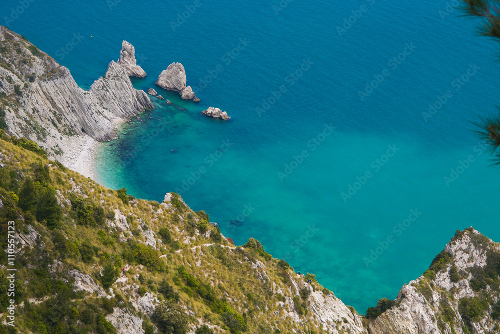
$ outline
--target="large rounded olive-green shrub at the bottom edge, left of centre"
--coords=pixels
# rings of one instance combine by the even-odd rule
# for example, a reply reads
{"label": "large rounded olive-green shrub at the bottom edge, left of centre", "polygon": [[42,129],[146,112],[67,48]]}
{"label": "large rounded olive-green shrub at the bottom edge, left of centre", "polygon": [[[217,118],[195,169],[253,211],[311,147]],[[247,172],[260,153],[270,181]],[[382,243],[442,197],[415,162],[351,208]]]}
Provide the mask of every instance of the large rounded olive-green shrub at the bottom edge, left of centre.
{"label": "large rounded olive-green shrub at the bottom edge, left of centre", "polygon": [[153,319],[158,324],[158,329],[164,333],[185,334],[187,331],[188,317],[184,309],[169,301],[161,301],[154,308]]}

